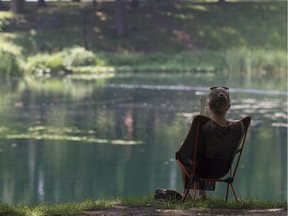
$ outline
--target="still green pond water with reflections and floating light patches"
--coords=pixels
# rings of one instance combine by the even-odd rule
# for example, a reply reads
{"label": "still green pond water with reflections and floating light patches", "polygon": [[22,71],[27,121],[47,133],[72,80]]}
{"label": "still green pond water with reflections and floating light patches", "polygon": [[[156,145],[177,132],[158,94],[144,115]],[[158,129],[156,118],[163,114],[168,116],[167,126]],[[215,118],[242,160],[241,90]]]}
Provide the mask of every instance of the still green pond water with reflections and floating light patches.
{"label": "still green pond water with reflections and floating light patches", "polygon": [[[2,82],[1,202],[142,196],[156,187],[181,191],[174,153],[199,112],[200,96],[214,83],[201,76],[191,77],[190,85],[186,76],[147,80]],[[231,87],[228,117],[253,119],[234,185],[238,196],[286,199],[287,90],[218,83]],[[224,196],[224,188],[219,184],[209,195]]]}

